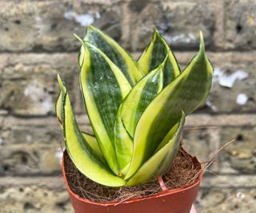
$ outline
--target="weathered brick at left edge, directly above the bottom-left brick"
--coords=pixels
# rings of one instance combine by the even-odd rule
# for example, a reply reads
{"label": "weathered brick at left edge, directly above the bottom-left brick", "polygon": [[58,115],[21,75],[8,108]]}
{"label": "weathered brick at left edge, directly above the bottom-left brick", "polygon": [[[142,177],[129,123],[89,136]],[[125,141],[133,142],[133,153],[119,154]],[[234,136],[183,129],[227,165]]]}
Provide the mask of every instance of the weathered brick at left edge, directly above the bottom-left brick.
{"label": "weathered brick at left edge, directly above the bottom-left brick", "polygon": [[[83,116],[78,121],[83,120]],[[79,122],[85,132],[88,124]],[[17,119],[6,117],[0,127],[0,176],[60,174],[63,132],[55,117]]]}

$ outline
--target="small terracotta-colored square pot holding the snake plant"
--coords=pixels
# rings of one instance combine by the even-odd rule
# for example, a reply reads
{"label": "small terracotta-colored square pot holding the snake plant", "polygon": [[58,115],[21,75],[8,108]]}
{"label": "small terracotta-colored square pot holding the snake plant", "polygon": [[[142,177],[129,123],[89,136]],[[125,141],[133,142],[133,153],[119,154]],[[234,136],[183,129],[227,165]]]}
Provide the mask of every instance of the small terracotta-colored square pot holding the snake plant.
{"label": "small terracotta-colored square pot holding the snake plant", "polygon": [[[198,179],[186,187],[166,190],[144,198],[126,200],[122,203],[100,203],[84,199],[71,191],[66,179],[64,155],[67,155],[66,151],[63,153],[62,158],[63,178],[70,194],[70,201],[76,213],[189,213],[197,197],[199,183],[203,173],[201,172]],[[200,165],[195,157],[193,158],[193,163],[195,166]]]}

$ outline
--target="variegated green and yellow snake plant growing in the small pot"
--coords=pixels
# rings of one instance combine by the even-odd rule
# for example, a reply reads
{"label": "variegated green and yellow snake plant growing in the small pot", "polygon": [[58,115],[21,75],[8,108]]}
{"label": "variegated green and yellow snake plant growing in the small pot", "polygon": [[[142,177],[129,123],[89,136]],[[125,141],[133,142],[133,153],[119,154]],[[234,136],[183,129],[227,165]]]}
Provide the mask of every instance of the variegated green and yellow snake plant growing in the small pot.
{"label": "variegated green and yellow snake plant growing in the small pot", "polygon": [[210,90],[213,68],[202,33],[199,51],[183,71],[156,29],[138,61],[94,26],[78,40],[80,86],[94,136],[79,129],[58,76],[56,112],[70,159],[89,179],[110,187],[164,174],[178,152],[185,117]]}

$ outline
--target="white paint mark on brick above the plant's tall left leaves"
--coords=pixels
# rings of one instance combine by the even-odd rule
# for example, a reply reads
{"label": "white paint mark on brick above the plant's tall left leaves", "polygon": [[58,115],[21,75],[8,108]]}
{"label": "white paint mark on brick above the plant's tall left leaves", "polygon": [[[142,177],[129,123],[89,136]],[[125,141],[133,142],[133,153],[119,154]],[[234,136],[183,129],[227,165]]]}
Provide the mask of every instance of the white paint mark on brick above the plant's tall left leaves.
{"label": "white paint mark on brick above the plant's tall left leaves", "polygon": [[94,22],[95,18],[100,18],[100,14],[77,14],[74,11],[68,11],[64,14],[64,17],[69,20],[78,22],[81,26],[90,26]]}

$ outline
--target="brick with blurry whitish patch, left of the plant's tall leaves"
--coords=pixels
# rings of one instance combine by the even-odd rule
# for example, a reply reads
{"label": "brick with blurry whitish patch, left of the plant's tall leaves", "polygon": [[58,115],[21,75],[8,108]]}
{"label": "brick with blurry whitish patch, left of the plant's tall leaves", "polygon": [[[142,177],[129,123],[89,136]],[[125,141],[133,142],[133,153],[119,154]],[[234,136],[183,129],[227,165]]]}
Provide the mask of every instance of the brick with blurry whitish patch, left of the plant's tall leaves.
{"label": "brick with blurry whitish patch, left of the plant's tall leaves", "polygon": [[[76,55],[8,54],[7,59],[0,56],[0,61],[8,61],[2,67],[0,109],[26,116],[54,114],[59,91],[58,73],[70,88],[72,103],[77,100],[79,105],[79,98],[75,96],[79,97],[80,89],[74,84],[79,70]],[[74,105],[78,112],[79,107]]]}

